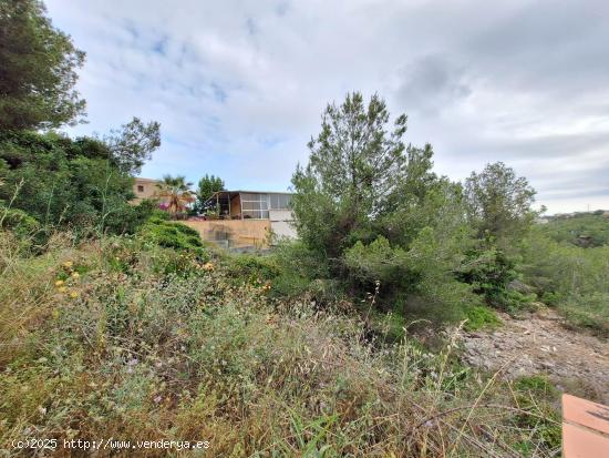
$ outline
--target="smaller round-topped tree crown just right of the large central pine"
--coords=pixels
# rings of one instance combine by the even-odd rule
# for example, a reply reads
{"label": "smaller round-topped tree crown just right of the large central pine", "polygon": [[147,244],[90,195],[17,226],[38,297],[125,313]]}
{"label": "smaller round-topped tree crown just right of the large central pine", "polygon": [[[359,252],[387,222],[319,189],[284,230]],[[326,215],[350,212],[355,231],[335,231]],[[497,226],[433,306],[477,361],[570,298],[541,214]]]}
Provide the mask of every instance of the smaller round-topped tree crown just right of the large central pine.
{"label": "smaller round-topped tree crown just right of the large central pine", "polygon": [[535,194],[528,181],[503,162],[487,164],[465,181],[468,216],[481,236],[505,238],[526,232],[537,215],[531,208]]}

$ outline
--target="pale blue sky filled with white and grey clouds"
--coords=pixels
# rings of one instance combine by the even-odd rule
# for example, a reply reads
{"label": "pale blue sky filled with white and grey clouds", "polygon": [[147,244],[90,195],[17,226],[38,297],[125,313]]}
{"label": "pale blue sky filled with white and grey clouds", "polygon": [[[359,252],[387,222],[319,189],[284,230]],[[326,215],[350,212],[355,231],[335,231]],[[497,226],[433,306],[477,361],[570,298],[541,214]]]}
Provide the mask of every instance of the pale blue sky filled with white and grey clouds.
{"label": "pale blue sky filled with white and grey clouds", "polygon": [[378,93],[435,171],[503,161],[548,213],[609,208],[609,2],[47,0],[103,135],[158,121],[142,176],[286,191],[329,102]]}

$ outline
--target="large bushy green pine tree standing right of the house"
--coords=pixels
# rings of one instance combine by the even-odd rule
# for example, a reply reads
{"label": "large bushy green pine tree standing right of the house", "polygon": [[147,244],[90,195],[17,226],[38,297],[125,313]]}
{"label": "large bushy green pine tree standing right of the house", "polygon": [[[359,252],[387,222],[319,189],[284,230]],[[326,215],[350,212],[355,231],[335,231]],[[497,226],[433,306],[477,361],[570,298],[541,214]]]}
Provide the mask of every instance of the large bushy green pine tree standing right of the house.
{"label": "large bushy green pine tree standing right of the house", "polygon": [[389,120],[376,95],[327,108],[309,163],[292,177],[299,236],[331,278],[360,293],[380,282],[382,302],[414,294],[430,306],[477,303],[453,273],[472,235],[461,186],[431,171],[429,144],[404,144],[405,115]]}

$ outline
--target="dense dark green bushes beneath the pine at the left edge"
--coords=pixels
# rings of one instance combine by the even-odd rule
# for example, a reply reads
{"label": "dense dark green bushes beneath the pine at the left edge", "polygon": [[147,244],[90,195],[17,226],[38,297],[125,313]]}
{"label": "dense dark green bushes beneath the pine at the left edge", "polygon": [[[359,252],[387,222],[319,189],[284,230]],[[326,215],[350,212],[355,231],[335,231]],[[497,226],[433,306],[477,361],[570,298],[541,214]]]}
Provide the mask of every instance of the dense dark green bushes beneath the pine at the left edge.
{"label": "dense dark green bushes beneath the pine at the left edge", "polygon": [[[97,233],[133,233],[155,210],[133,206],[133,179],[118,170],[97,139],[54,133],[0,134],[0,201],[38,220],[47,232],[59,225]],[[17,193],[16,193],[17,191]]]}

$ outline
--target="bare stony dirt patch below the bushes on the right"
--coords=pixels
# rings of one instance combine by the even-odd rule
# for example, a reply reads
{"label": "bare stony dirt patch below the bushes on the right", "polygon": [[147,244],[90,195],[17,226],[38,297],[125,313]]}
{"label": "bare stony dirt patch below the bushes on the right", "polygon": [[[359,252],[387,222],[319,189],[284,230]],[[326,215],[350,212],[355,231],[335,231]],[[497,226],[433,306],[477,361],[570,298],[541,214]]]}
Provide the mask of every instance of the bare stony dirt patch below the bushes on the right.
{"label": "bare stony dirt patch below the bushes on the right", "polygon": [[515,319],[502,314],[492,332],[464,333],[463,360],[516,378],[545,374],[559,389],[609,404],[609,339],[567,329],[545,309]]}

